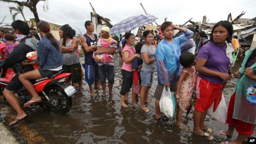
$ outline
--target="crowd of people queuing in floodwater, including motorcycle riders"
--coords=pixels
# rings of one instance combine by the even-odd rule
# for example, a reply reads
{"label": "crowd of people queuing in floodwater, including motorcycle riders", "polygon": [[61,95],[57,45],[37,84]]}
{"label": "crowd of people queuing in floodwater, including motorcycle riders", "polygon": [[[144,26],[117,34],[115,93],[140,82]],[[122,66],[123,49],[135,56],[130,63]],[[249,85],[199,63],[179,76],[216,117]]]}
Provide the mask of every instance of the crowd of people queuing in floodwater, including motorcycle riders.
{"label": "crowd of people queuing in floodwater, including motorcycle riders", "polygon": [[[14,21],[12,27],[15,35],[20,39],[20,43],[15,45],[12,41],[14,40],[12,34],[6,34],[5,37],[2,37],[1,30],[1,40],[5,41],[5,43],[0,44],[1,56],[5,56],[7,53],[6,50],[1,48],[2,45],[5,44],[7,48],[8,45],[12,44],[15,45],[15,48],[6,57],[6,60],[0,64],[0,67],[12,67],[23,60],[26,53],[34,50],[38,51],[38,58],[34,62],[23,63],[25,73],[16,74],[4,89],[3,94],[6,100],[17,112],[15,120],[9,124],[10,126],[27,116],[14,96],[16,90],[24,85],[32,94],[32,99],[24,104],[24,107],[41,101],[29,81],[30,79],[46,77],[64,70],[64,72],[71,73],[67,84],[70,85],[71,82],[78,83],[78,89],[83,90],[78,39],[74,37],[75,32],[68,24],[60,28],[61,39],[59,42],[50,34],[50,26],[46,22],[38,23],[41,40],[36,34],[29,36],[29,27],[23,21]],[[108,27],[101,29],[102,38],[93,34],[94,24],[91,21],[85,22],[85,28],[86,33],[81,36],[80,40],[85,54],[82,66],[85,69],[85,81],[90,88],[90,95],[95,96],[92,88],[94,84],[94,89],[102,88],[102,96],[106,96],[106,79],[108,79],[109,95],[112,95],[114,54],[118,43],[109,34],[110,28]],[[164,22],[160,29],[163,36],[161,41],[157,31],[154,33],[150,30],[143,32],[143,41],[138,42],[138,44],[138,36],[135,37],[130,32],[127,32],[124,38],[120,37],[119,50],[123,61],[120,90],[121,106],[128,108],[125,100],[128,100],[128,94],[130,88],[132,88],[132,105],[137,106],[136,101],[138,101],[138,94],[140,94],[140,108],[145,112],[150,111],[146,108],[145,103],[149,102],[148,93],[153,84],[156,69],[158,86],[154,93],[154,98],[156,98],[154,118],[163,123],[170,121],[169,118],[161,114],[159,106],[162,90],[167,87],[170,88],[171,92],[176,92],[176,98],[178,99],[176,125],[182,129],[188,129],[189,127],[181,122],[181,117],[195,89],[194,133],[212,140],[214,131],[204,124],[206,112],[214,102],[221,98],[224,83],[232,78],[232,75],[228,73],[228,68],[234,66],[239,51],[238,42],[232,40],[232,24],[228,21],[220,21],[215,24],[208,41],[205,39],[205,33],[200,32],[197,51],[195,50],[195,43],[191,39],[195,32],[194,28],[187,29],[178,27],[172,22]],[[173,38],[174,30],[180,30],[183,35]],[[33,39],[32,36],[34,36]],[[19,56],[17,56],[18,54]],[[110,57],[111,60],[107,63],[97,62],[94,57],[100,54]],[[234,73],[234,76],[239,79],[228,107],[226,122],[229,127],[227,131],[221,133],[233,135],[236,128],[238,137],[233,142],[224,142],[225,144],[242,143],[245,138],[254,132],[256,106],[246,101],[244,89],[247,88],[246,86],[256,83],[255,62],[256,49],[248,50],[242,67]],[[32,70],[32,64],[38,64],[40,68]],[[99,86],[99,83],[102,87]]]}

